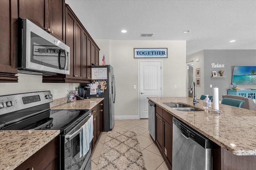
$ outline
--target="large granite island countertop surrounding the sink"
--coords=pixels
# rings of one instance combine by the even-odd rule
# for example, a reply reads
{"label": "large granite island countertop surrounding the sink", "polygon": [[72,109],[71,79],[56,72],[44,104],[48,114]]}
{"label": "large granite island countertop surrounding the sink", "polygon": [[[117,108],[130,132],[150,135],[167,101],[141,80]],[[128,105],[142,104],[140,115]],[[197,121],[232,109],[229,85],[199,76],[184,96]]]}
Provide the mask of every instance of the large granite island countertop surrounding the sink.
{"label": "large granite island countertop surrounding the sink", "polygon": [[[206,111],[177,111],[166,103],[193,106],[193,98],[149,97],[149,100],[168,111],[220,147],[236,155],[256,155],[256,111],[219,104],[222,114]],[[203,100],[194,108],[203,108]]]}

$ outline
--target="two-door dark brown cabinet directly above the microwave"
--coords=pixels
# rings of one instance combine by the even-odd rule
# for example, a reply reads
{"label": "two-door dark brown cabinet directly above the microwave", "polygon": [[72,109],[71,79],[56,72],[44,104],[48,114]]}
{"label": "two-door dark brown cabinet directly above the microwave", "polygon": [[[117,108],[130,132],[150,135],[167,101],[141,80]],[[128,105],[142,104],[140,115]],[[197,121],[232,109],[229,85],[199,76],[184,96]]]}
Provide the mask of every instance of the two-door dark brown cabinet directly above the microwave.
{"label": "two-door dark brown cabinet directly above the microwave", "polygon": [[65,0],[18,0],[19,17],[65,40]]}

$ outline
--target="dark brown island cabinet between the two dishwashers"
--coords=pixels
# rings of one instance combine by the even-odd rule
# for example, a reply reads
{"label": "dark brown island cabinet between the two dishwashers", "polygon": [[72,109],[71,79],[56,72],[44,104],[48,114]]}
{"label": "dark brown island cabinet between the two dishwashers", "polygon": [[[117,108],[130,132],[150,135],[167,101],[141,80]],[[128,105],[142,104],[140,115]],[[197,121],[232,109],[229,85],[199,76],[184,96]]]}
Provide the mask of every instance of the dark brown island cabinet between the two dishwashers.
{"label": "dark brown island cabinet between the two dishwashers", "polygon": [[170,113],[156,105],[156,144],[169,169],[172,169],[172,118]]}

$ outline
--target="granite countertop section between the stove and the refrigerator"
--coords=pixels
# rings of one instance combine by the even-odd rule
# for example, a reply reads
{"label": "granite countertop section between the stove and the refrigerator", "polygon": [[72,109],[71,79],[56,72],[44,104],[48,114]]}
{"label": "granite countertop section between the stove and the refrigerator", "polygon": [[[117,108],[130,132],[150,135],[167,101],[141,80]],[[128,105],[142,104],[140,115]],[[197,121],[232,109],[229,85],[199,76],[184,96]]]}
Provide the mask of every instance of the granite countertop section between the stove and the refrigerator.
{"label": "granite countertop section between the stove and the refrigerator", "polygon": [[54,110],[61,110],[61,109],[92,109],[94,106],[99,104],[104,98],[90,98],[90,99],[84,99],[84,100],[76,100],[74,102],[65,102],[64,104],[60,104],[58,106],[51,106],[51,109]]}

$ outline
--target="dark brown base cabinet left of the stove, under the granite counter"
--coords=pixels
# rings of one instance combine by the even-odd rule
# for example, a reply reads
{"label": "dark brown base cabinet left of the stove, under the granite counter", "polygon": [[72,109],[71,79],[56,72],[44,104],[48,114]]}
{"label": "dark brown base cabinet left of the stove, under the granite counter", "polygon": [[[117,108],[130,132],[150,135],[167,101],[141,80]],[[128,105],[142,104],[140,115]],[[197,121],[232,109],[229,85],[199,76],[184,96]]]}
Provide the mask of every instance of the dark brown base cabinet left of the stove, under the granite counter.
{"label": "dark brown base cabinet left of the stove, under the granite counter", "polygon": [[58,152],[59,137],[52,141],[30,156],[15,170],[56,170],[58,169]]}

